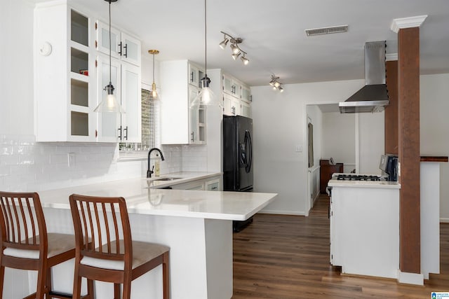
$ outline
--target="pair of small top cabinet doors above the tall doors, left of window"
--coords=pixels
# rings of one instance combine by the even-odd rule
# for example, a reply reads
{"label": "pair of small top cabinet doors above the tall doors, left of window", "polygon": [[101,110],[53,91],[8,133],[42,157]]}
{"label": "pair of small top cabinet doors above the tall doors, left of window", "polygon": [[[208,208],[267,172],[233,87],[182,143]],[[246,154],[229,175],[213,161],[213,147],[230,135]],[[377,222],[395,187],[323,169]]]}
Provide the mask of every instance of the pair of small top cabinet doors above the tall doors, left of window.
{"label": "pair of small top cabinet doors above the tall doors, left of window", "polygon": [[[101,53],[109,55],[109,25],[97,21],[96,46]],[[133,36],[121,32],[119,29],[111,27],[111,56],[140,66],[140,41]]]}

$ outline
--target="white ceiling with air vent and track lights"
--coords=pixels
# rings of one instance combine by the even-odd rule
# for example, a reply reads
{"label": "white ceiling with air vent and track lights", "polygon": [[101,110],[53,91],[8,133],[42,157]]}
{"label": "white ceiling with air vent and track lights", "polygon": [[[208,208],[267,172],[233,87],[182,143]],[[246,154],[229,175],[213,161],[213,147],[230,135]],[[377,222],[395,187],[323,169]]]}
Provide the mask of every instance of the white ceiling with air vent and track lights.
{"label": "white ceiling with air vent and track lights", "polygon": [[[102,20],[107,20],[108,5],[76,0],[76,6]],[[272,74],[282,83],[361,79],[364,43],[385,40],[387,54],[396,53],[391,21],[417,15],[428,15],[420,29],[421,73],[449,73],[448,0],[208,0],[208,69],[223,69],[250,86],[267,85]],[[336,25],[349,25],[349,31],[304,34],[304,29]],[[203,0],[119,0],[112,3],[112,26],[138,36],[142,55],[158,49],[158,61],[204,65]],[[220,31],[243,39],[247,66],[232,60],[229,44],[219,48]]]}

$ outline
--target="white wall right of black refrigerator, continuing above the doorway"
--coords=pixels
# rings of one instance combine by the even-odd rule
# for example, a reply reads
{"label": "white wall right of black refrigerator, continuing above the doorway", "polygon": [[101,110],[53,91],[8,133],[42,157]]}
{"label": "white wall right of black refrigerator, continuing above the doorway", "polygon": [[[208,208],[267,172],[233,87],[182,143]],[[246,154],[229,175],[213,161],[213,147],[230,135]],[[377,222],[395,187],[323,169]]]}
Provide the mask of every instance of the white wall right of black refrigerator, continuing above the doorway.
{"label": "white wall right of black refrigerator, continuing above the doorway", "polygon": [[344,101],[363,85],[363,80],[291,84],[283,93],[268,85],[251,88],[255,192],[279,193],[265,212],[307,213],[306,105]]}

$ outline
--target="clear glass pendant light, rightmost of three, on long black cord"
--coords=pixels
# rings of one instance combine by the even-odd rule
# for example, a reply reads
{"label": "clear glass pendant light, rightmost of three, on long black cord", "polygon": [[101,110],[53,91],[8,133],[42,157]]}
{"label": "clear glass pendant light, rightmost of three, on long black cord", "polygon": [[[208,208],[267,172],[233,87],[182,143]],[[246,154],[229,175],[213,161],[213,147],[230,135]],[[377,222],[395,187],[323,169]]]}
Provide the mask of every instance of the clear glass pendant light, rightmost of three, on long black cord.
{"label": "clear glass pendant light, rightmost of three, on long black cord", "polygon": [[208,25],[207,25],[207,6],[206,1],[204,0],[204,77],[201,78],[201,91],[198,95],[196,95],[194,101],[190,104],[191,108],[199,108],[199,106],[219,106],[223,108],[223,104],[220,101],[217,101],[215,96],[213,95],[212,90],[210,90],[210,78],[208,78],[208,41],[207,41],[207,33],[208,33]]}

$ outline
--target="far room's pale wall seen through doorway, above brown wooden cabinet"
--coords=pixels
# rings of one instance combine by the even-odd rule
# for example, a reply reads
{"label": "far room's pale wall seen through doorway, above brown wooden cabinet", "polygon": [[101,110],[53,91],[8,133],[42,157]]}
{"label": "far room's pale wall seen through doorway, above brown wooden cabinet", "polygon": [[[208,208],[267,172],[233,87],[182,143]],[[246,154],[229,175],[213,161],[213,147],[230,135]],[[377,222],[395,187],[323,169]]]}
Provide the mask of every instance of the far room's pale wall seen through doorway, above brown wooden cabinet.
{"label": "far room's pale wall seen through doorway, above brown wooden cabinet", "polygon": [[344,172],[351,172],[356,168],[355,119],[354,113],[323,113],[321,158],[332,157],[336,163],[344,163]]}

